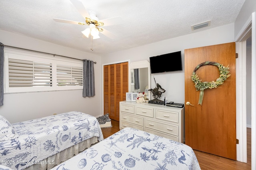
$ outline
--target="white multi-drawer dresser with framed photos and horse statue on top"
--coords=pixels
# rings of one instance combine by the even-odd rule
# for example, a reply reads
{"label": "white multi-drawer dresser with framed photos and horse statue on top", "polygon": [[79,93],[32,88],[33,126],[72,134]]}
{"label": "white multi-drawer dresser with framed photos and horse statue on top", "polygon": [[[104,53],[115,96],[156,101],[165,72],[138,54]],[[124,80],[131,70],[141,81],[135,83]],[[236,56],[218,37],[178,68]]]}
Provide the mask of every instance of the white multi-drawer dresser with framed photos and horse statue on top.
{"label": "white multi-drawer dresser with framed photos and horse statue on top", "polygon": [[122,101],[119,123],[184,143],[184,107]]}

